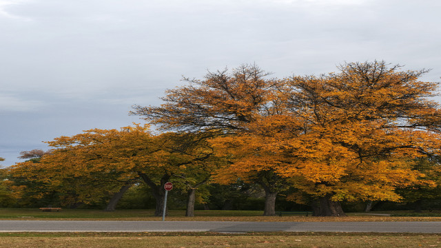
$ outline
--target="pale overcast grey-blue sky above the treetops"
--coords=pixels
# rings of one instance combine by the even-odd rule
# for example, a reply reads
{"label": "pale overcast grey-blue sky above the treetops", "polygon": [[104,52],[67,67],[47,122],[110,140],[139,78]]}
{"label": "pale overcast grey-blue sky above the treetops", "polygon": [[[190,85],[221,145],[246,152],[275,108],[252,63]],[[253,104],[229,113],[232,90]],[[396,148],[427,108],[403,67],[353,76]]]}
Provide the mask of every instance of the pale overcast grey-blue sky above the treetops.
{"label": "pale overcast grey-blue sky above the treetops", "polygon": [[272,76],[384,60],[440,81],[439,0],[0,0],[0,157],[143,123],[132,105],[256,63]]}

